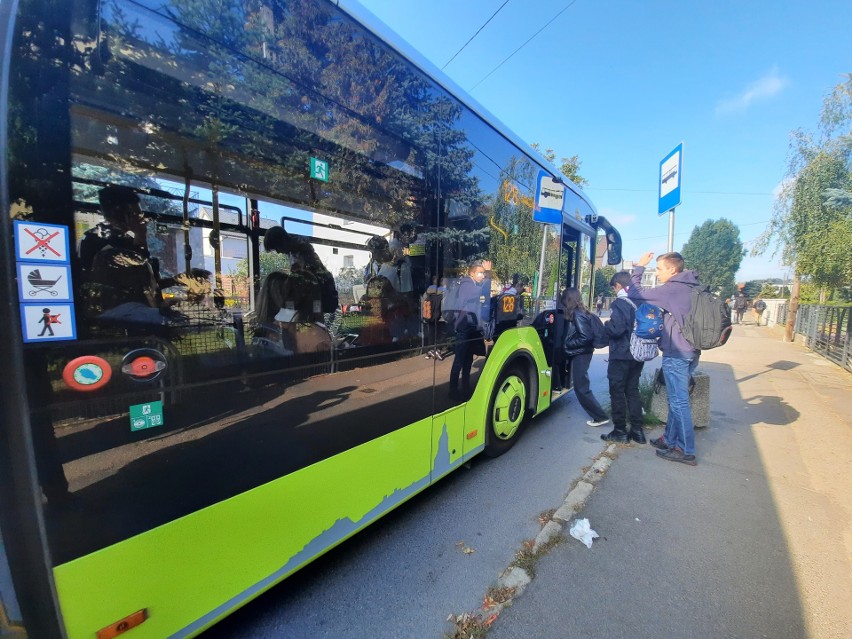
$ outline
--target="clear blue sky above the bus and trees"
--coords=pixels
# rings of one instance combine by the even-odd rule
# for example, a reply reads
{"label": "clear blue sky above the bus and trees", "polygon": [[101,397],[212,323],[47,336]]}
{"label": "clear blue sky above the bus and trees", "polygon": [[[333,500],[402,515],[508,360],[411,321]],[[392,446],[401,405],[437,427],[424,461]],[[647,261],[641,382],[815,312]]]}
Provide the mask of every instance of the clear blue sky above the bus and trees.
{"label": "clear blue sky above the bus and trees", "polygon": [[[438,68],[504,1],[359,0]],[[579,155],[625,259],[666,249],[659,168],[680,142],[675,250],[722,217],[751,247],[790,132],[814,130],[825,95],[852,72],[850,25],[849,0],[509,0],[444,72],[521,139]],[[768,252],[745,258],[737,279],[785,272]]]}

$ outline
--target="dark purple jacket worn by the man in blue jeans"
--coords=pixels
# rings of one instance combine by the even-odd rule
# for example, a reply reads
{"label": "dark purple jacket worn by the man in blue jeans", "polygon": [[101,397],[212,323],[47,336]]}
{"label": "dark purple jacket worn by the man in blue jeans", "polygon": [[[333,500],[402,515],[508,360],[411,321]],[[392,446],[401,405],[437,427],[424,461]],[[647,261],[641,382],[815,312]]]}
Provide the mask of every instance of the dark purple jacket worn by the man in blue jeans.
{"label": "dark purple jacket worn by the man in blue jeans", "polygon": [[686,341],[680,327],[687,313],[692,310],[692,287],[698,284],[695,271],[682,271],[656,288],[642,288],[644,272],[644,266],[633,269],[627,296],[637,305],[648,302],[666,311],[663,315],[663,334],[660,336],[663,357],[693,359],[699,351]]}

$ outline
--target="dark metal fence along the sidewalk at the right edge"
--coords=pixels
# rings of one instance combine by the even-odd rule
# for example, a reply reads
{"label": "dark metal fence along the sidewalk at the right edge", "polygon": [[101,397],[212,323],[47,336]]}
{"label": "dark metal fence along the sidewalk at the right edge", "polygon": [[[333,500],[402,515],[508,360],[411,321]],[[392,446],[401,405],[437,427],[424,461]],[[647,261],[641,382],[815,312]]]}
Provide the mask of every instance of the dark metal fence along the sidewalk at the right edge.
{"label": "dark metal fence along the sidewalk at the right edge", "polygon": [[[783,315],[786,321],[786,306]],[[793,333],[801,335],[805,345],[812,351],[852,371],[852,344],[849,340],[851,324],[852,307],[799,306]]]}

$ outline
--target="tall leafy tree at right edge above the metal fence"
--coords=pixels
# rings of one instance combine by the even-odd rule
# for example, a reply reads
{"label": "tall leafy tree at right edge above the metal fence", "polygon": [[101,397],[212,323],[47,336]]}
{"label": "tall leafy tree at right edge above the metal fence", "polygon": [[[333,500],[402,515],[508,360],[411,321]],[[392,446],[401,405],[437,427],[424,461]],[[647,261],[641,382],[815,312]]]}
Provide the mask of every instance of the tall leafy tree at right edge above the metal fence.
{"label": "tall leafy tree at right edge above the metal fence", "polygon": [[810,284],[852,281],[852,75],[823,103],[818,133],[793,133],[787,179],[755,253],[777,242]]}

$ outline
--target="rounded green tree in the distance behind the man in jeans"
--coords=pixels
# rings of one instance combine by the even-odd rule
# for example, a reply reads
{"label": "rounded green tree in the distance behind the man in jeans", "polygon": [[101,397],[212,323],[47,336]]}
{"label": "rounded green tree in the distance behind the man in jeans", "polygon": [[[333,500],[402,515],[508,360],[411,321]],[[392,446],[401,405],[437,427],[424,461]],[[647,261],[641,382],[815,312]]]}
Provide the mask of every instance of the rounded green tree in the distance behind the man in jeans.
{"label": "rounded green tree in the distance behind the man in jeans", "polygon": [[692,229],[689,241],[681,250],[686,268],[698,271],[701,282],[725,297],[732,296],[734,276],[745,252],[740,230],[731,221],[707,220]]}

